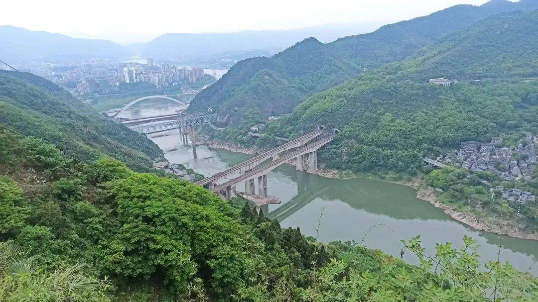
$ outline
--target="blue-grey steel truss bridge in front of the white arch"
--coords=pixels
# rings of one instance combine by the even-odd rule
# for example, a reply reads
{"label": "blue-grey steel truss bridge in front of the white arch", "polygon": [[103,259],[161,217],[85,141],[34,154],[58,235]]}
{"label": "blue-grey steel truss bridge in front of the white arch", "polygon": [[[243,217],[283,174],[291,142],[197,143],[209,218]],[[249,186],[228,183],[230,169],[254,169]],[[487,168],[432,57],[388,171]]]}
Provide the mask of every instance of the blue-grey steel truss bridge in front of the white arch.
{"label": "blue-grey steel truss bridge in front of the white arch", "polygon": [[[142,125],[131,126],[130,128],[131,130],[136,131],[138,133],[151,134],[151,133],[158,133],[158,132],[174,130],[174,129],[207,125],[207,124],[214,123],[216,120],[217,120],[216,113],[203,114],[203,115],[189,114],[186,116],[178,116],[177,119],[164,121],[162,123],[142,124]],[[128,123],[125,123],[125,124],[126,126],[129,126]]]}

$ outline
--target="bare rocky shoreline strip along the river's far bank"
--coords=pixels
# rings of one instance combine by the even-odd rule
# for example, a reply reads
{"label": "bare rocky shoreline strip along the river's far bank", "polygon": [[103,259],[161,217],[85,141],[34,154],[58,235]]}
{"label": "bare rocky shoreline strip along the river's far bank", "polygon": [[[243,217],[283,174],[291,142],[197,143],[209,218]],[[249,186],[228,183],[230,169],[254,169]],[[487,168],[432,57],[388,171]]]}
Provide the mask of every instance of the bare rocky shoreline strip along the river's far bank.
{"label": "bare rocky shoreline strip along the river's far bank", "polygon": [[[247,154],[256,154],[257,151],[260,151],[260,150],[243,148],[243,147],[240,147],[239,145],[235,146],[231,144],[223,144],[223,143],[218,143],[218,142],[206,141],[205,144],[208,145],[210,148],[226,149],[232,152],[240,152],[240,153],[247,153]],[[424,184],[423,179],[421,177],[415,177],[408,181],[390,180],[390,179],[381,179],[379,177],[375,177],[374,175],[367,175],[367,174],[357,176],[350,172],[348,173],[344,171],[339,171],[335,169],[326,169],[326,168],[321,168],[315,174],[322,177],[335,178],[335,179],[367,178],[367,179],[374,179],[381,182],[405,185],[414,190],[417,190],[416,192],[417,199],[427,201],[437,208],[442,208],[445,214],[449,215],[451,218],[465,225],[470,226],[473,229],[476,229],[478,231],[493,233],[493,234],[507,235],[514,238],[538,241],[538,234],[530,234],[530,233],[523,232],[521,231],[519,226],[517,226],[511,221],[498,220],[498,224],[492,224],[491,222],[486,221],[485,219],[481,219],[480,217],[478,217],[477,215],[473,213],[457,211],[454,207],[441,203],[437,199],[434,189],[431,189],[431,188],[421,189],[421,186],[423,186]]]}

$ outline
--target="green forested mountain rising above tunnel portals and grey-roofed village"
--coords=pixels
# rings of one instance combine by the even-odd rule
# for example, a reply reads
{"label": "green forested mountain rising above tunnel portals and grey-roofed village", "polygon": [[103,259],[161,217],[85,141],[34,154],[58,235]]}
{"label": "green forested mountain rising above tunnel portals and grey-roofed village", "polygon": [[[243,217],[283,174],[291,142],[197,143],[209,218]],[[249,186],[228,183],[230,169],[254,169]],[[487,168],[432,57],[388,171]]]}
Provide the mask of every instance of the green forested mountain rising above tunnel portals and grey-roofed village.
{"label": "green forested mountain rising above tunnel portals and grey-roofed village", "polygon": [[[313,95],[268,132],[339,128],[341,143],[321,157],[329,166],[416,171],[436,148],[538,129],[536,45],[538,11],[486,18],[404,62]],[[428,83],[443,76],[482,82]]]}

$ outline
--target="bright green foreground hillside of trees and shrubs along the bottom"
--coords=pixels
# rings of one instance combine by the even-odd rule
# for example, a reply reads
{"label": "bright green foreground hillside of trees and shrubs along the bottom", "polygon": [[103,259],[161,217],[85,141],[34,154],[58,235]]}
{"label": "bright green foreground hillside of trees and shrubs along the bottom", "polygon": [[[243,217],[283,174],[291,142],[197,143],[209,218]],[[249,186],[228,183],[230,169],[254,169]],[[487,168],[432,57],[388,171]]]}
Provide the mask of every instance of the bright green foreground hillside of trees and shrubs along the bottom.
{"label": "bright green foreground hillside of trees and shrubs along the bottom", "polygon": [[0,146],[1,301],[538,299],[538,279],[481,264],[472,238],[435,255],[412,238],[402,253],[419,258],[413,266],[362,243],[318,243],[244,199],[229,203],[110,157],[81,164],[5,131]]}

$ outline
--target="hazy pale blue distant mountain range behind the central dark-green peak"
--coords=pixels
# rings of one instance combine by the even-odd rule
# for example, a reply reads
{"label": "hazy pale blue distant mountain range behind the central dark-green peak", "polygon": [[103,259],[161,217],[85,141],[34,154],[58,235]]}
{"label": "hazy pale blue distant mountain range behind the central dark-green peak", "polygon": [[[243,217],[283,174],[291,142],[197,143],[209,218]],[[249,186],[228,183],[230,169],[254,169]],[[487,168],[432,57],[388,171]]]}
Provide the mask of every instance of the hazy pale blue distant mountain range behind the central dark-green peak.
{"label": "hazy pale blue distant mountain range behind the central dark-green peak", "polygon": [[146,44],[143,56],[160,59],[203,58],[225,52],[254,49],[280,50],[307,37],[331,42],[350,34],[370,32],[375,24],[326,24],[297,30],[240,31],[232,33],[166,33]]}

